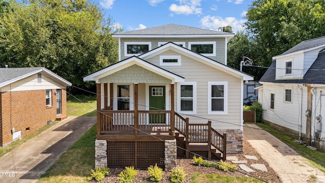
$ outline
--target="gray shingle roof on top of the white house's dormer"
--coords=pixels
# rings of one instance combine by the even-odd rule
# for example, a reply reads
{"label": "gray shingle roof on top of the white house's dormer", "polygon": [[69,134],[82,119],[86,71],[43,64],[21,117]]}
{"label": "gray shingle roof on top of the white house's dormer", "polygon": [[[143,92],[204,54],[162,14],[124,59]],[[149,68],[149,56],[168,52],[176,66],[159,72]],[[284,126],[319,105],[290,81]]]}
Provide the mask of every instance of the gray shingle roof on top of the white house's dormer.
{"label": "gray shingle roof on top of the white house's dormer", "polygon": [[306,50],[306,49],[310,49],[310,48],[314,48],[314,47],[324,45],[324,44],[325,44],[325,36],[310,39],[310,40],[306,40],[306,41],[303,41],[303,42],[297,44],[296,46],[290,48],[289,50],[287,50],[284,53],[279,54],[277,56],[285,55],[285,54],[289,54],[289,53],[294,53],[294,52],[297,52],[297,51],[302,51],[302,50]]}

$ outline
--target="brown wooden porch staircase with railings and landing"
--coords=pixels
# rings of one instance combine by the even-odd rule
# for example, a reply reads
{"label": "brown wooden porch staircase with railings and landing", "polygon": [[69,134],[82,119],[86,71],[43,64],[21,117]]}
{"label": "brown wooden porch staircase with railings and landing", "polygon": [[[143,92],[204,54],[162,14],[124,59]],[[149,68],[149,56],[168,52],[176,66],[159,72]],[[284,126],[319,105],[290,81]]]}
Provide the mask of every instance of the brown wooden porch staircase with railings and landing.
{"label": "brown wooden porch staircase with railings and landing", "polygon": [[[177,120],[176,120],[177,119]],[[188,118],[176,114],[175,137],[178,158],[190,158],[193,153],[208,159],[226,159],[226,134],[221,135],[207,124],[190,124]],[[190,153],[192,152],[192,153]]]}

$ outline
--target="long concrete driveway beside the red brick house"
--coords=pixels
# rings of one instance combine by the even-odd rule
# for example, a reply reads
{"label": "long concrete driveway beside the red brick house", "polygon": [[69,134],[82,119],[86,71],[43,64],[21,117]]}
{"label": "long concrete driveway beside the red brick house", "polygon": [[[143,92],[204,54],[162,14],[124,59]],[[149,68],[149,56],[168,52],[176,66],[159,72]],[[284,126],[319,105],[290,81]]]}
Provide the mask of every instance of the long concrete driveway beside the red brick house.
{"label": "long concrete driveway beside the red brick house", "polygon": [[95,123],[68,117],[0,158],[0,182],[36,182]]}

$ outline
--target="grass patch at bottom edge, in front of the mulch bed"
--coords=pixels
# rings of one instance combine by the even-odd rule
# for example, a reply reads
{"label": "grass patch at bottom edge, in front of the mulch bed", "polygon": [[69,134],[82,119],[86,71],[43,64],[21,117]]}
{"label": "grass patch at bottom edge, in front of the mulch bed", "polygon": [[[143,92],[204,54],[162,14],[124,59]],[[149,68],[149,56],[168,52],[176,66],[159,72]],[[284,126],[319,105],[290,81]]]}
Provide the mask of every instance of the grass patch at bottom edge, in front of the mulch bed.
{"label": "grass patch at bottom edge, in front of the mulch bed", "polygon": [[240,182],[263,182],[258,179],[252,177],[245,177],[245,176],[223,176],[219,174],[201,174],[201,173],[194,173],[191,177],[193,183],[222,183],[222,182],[232,182],[232,183],[240,183]]}

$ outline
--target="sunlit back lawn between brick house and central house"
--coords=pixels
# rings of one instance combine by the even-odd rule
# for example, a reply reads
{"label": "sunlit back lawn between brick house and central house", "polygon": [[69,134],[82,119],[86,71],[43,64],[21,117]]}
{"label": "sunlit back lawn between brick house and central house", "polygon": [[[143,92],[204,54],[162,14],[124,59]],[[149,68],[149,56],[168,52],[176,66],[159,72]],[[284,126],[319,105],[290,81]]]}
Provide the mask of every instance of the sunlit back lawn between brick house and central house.
{"label": "sunlit back lawn between brick house and central house", "polygon": [[67,97],[68,116],[96,116],[96,96],[72,96]]}

